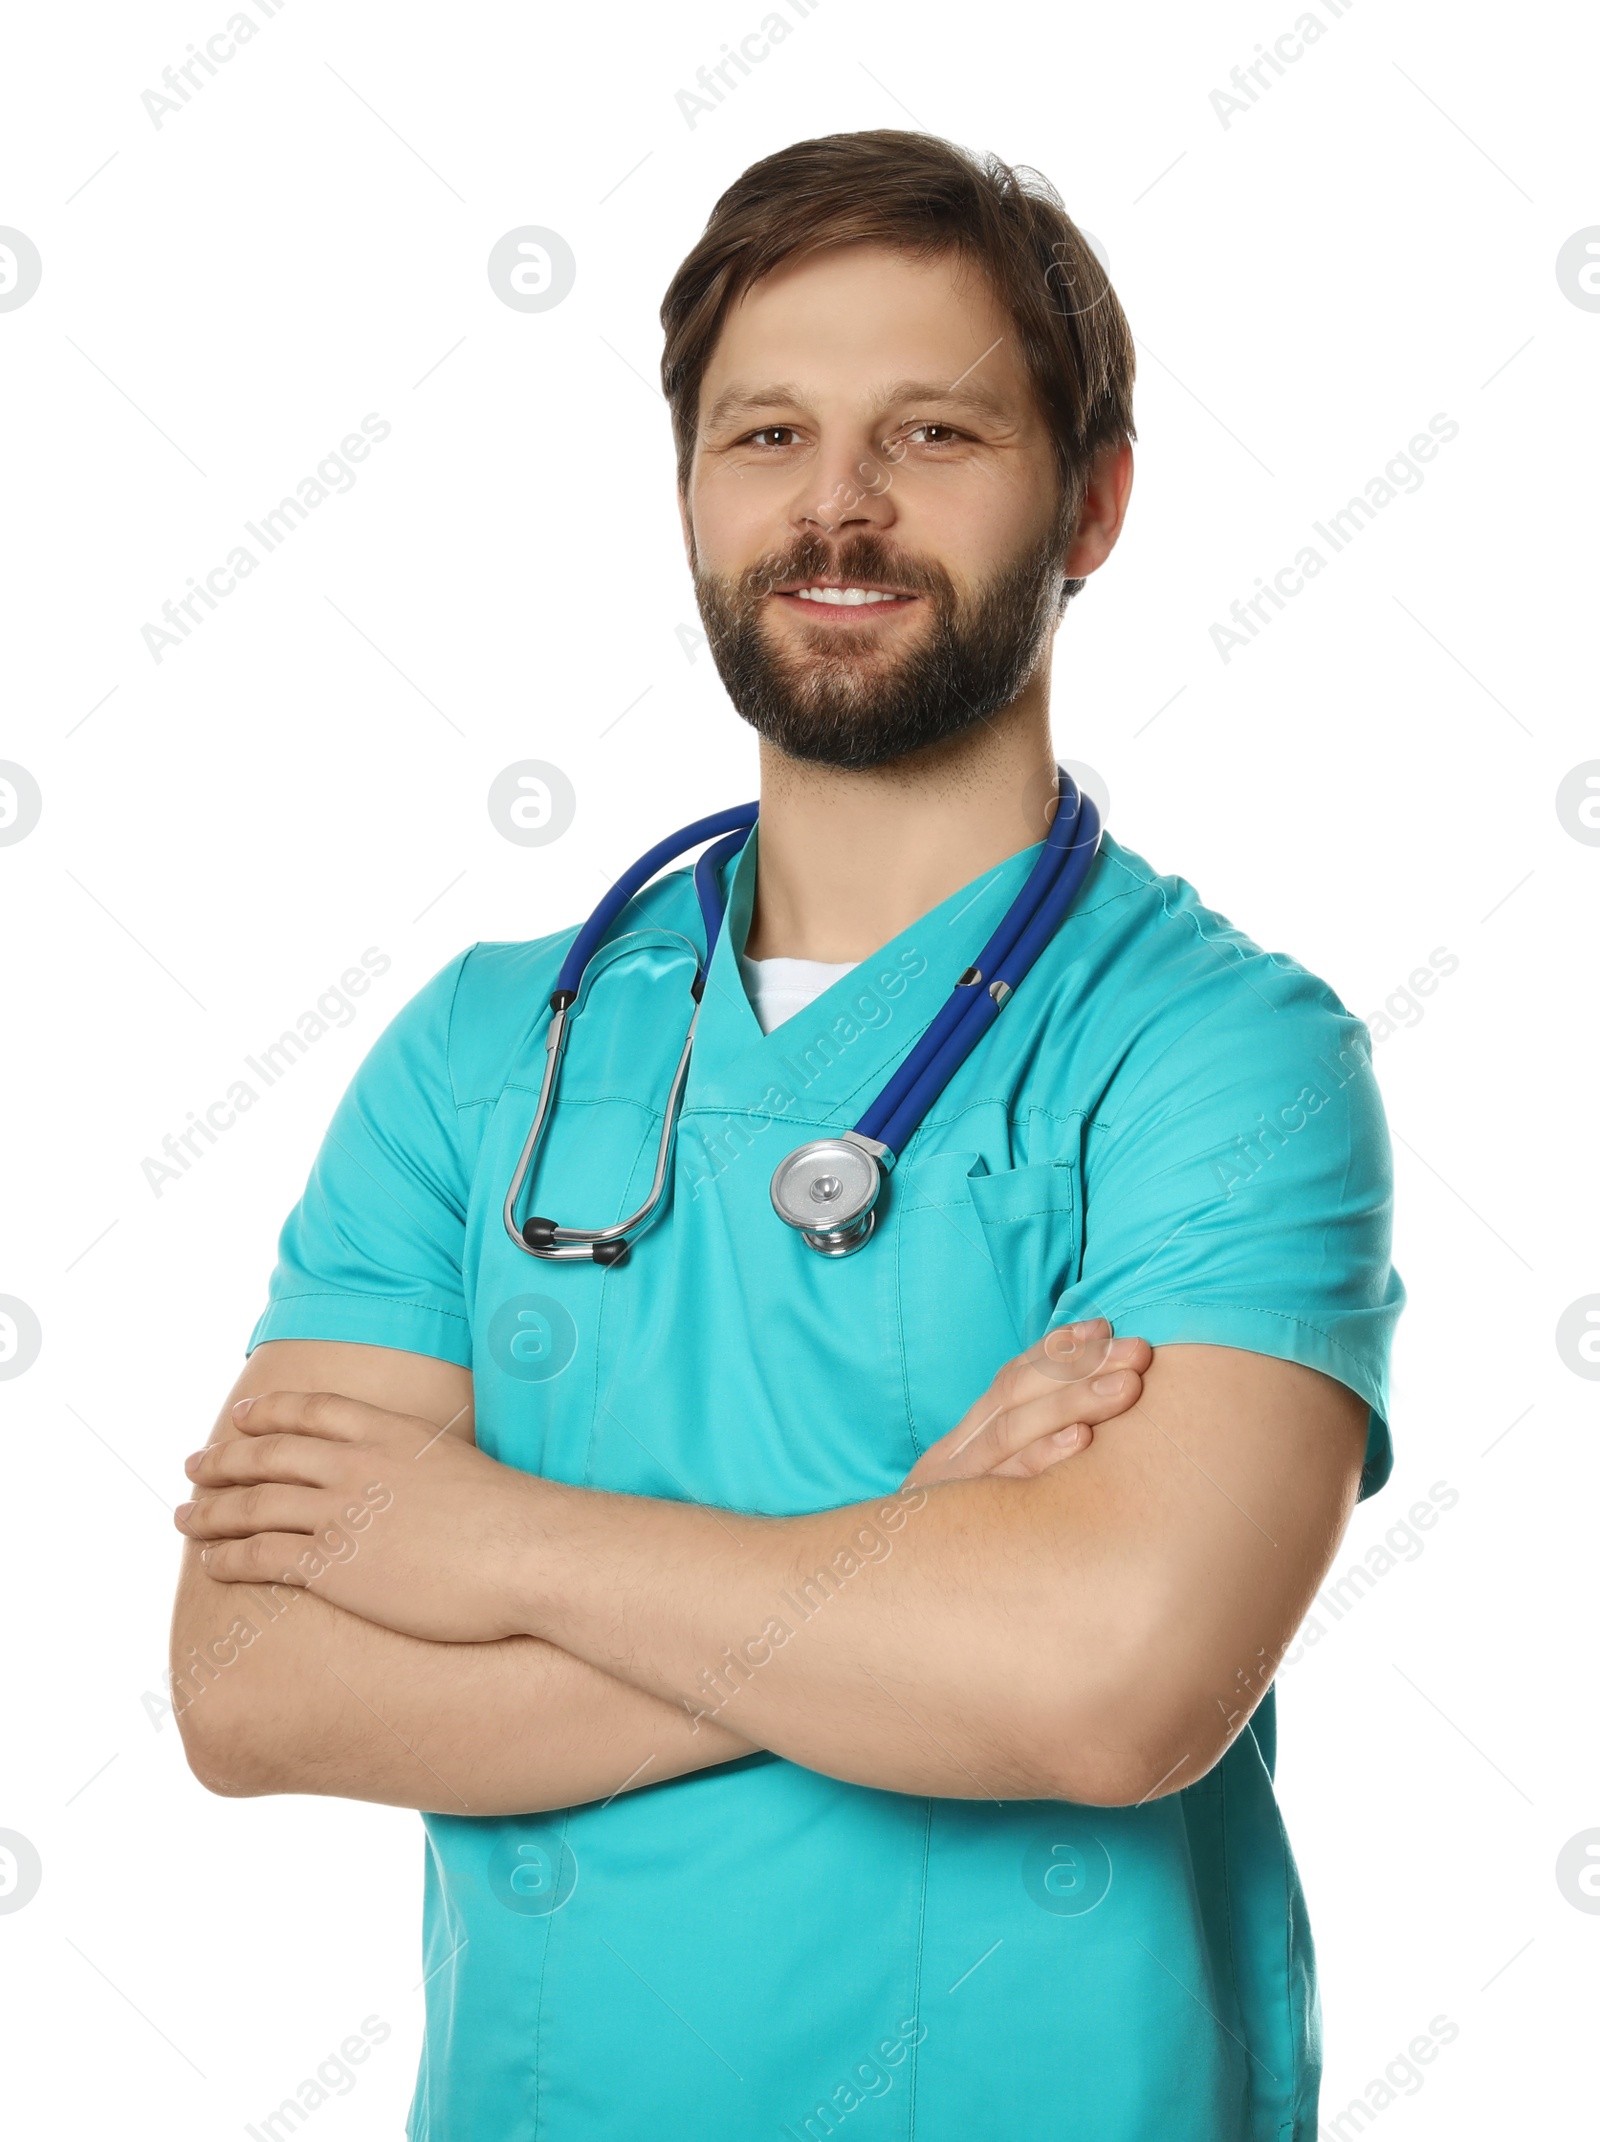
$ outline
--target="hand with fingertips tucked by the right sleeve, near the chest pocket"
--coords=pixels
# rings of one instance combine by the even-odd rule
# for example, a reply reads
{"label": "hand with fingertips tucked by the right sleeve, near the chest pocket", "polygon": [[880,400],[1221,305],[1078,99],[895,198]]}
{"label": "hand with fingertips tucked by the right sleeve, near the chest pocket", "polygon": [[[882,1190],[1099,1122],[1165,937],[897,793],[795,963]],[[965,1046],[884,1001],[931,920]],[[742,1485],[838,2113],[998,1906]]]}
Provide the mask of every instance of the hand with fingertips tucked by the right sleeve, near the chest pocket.
{"label": "hand with fingertips tucked by the right sleeve, near the chest pocket", "polygon": [[1030,1480],[1095,1442],[1095,1429],[1139,1403],[1152,1354],[1112,1339],[1105,1317],[1058,1324],[996,1375],[977,1405],[906,1474],[932,1487],[985,1474]]}

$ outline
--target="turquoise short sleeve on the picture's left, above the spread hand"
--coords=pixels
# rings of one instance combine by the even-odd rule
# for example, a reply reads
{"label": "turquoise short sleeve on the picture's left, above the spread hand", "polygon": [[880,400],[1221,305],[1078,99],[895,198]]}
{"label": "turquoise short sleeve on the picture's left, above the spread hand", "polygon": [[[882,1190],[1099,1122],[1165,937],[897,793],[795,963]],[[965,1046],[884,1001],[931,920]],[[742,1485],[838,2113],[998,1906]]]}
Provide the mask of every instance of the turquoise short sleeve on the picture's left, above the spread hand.
{"label": "turquoise short sleeve on the picture's left, above the spread hand", "polygon": [[334,1110],[278,1236],[263,1339],[347,1339],[471,1367],[463,1292],[469,1157],[450,1017],[471,949],[383,1028]]}

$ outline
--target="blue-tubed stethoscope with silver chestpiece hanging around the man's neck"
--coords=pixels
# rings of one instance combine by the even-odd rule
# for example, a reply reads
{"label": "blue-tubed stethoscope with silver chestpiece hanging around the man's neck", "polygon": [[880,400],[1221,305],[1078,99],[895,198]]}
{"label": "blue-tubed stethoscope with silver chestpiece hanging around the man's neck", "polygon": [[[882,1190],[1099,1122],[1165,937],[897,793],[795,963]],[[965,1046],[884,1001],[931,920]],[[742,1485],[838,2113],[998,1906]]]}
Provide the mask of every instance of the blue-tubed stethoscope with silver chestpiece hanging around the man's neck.
{"label": "blue-tubed stethoscope with silver chestpiece hanging around the man's neck", "polygon": [[[771,1202],[778,1217],[799,1230],[799,1238],[825,1257],[848,1257],[850,1251],[872,1234],[878,1219],[878,1197],[885,1178],[895,1165],[912,1131],[927,1110],[938,1101],[977,1043],[1000,1017],[1015,994],[1022,977],[1052,940],[1067,917],[1077,889],[1088,876],[1088,865],[1101,844],[1101,814],[1090,797],[1082,795],[1065,767],[1060,775],[1056,816],[1045,833],[1045,844],[1028,872],[1028,883],[1007,908],[1000,927],[977,955],[977,962],[955,977],[945,1005],[934,1022],[912,1047],[872,1107],[852,1131],[837,1137],[814,1137],[797,1146],[788,1159],[778,1163],[771,1180]],[[505,1191],[505,1234],[531,1257],[589,1257],[593,1264],[621,1264],[638,1236],[660,1215],[666,1195],[666,1178],[673,1163],[673,1140],[683,1099],[683,1082],[690,1071],[694,1028],[700,1020],[700,998],[705,994],[705,968],[722,930],[722,885],[718,870],[728,857],[743,848],[756,825],[758,805],[739,803],[733,810],[696,818],[694,825],[668,833],[647,855],[625,870],[606,897],[578,930],[565,955],[561,972],[550,994],[550,1026],[544,1037],[544,1077],[540,1101],[533,1114],[533,1129],[527,1133],[523,1155]],[[615,1227],[559,1227],[553,1219],[538,1215],[518,1227],[516,1206],[523,1185],[529,1178],[533,1157],[544,1137],[555,1088],[561,1073],[561,1056],[568,1041],[568,1013],[578,998],[583,977],[600,951],[606,932],[638,893],[666,863],[677,861],[703,840],[713,842],[694,865],[694,893],[705,921],[705,962],[696,953],[690,996],[694,1011],[690,1030],[683,1037],[683,1052],[673,1073],[666,1097],[666,1120],[655,1148],[655,1174],[649,1193],[636,1212],[619,1219]]]}

